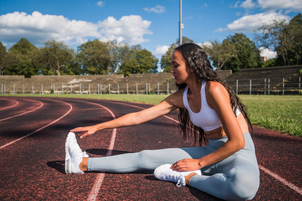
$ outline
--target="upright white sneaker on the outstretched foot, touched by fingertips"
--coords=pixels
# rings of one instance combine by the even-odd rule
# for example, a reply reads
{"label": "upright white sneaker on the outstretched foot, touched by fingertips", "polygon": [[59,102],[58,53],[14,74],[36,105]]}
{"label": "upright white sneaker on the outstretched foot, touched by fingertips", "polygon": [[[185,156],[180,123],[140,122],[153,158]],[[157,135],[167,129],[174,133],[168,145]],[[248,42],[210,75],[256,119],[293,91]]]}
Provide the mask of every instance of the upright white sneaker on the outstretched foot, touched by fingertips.
{"label": "upright white sneaker on the outstretched foot, touched by fingertips", "polygon": [[83,158],[89,157],[79,147],[75,133],[69,132],[65,143],[65,172],[66,174],[84,174],[79,165]]}

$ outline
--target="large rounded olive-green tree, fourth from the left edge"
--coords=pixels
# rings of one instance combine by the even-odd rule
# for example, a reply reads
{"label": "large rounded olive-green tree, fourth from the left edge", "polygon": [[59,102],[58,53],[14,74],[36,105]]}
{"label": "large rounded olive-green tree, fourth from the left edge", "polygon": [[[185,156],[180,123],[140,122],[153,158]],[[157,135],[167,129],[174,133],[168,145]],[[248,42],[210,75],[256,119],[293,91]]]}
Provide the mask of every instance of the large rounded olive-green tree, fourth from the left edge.
{"label": "large rounded olive-green tree, fourth from the left edge", "polygon": [[109,74],[111,64],[108,43],[97,39],[78,46],[77,60],[87,74]]}

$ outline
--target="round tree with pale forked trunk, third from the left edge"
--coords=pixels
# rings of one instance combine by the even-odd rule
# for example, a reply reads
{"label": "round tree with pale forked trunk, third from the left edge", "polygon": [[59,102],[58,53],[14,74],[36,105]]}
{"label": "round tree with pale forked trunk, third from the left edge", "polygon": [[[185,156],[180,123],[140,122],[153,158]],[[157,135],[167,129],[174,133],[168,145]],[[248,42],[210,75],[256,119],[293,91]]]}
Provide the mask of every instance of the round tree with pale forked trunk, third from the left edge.
{"label": "round tree with pale forked trunk, third from the left edge", "polygon": [[[45,42],[40,49],[40,62],[48,67],[55,74],[60,75],[62,69],[68,69],[73,61],[74,51],[64,45],[63,42],[56,42],[54,39]],[[45,72],[45,71],[44,71]],[[50,74],[48,70],[48,74]]]}

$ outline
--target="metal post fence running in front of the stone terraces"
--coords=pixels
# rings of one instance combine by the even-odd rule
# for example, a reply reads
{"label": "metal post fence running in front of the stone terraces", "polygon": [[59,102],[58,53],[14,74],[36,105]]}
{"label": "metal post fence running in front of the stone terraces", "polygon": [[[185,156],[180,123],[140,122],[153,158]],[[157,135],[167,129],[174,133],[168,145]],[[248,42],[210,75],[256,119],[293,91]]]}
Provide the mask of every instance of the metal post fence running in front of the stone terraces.
{"label": "metal post fence running in front of the stone terraces", "polygon": [[[225,80],[236,94],[300,95],[301,77]],[[1,94],[170,94],[177,88],[169,82],[77,83],[77,84],[0,84]]]}

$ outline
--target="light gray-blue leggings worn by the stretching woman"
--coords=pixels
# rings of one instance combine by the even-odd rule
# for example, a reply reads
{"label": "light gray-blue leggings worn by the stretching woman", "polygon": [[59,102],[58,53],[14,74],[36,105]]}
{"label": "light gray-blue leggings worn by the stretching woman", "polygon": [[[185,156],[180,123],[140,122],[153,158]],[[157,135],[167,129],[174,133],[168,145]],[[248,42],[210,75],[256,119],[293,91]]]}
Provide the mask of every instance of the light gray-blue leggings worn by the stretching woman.
{"label": "light gray-blue leggings worn by the stretching woman", "polygon": [[[255,147],[249,133],[243,133],[245,147],[230,157],[201,168],[202,175],[194,175],[190,186],[225,200],[252,199],[259,188],[259,168]],[[154,170],[163,164],[182,159],[199,159],[227,141],[227,137],[209,139],[205,147],[144,150],[108,157],[89,158],[88,171],[126,173],[141,169]]]}

